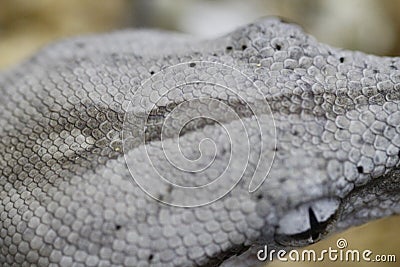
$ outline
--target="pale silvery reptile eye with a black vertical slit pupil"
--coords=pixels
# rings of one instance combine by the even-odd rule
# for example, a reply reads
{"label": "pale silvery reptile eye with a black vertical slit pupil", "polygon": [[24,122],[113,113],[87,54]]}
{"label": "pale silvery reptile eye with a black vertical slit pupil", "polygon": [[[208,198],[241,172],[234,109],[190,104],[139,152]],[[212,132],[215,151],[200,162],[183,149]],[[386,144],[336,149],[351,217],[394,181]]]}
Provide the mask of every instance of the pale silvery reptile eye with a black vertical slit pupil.
{"label": "pale silvery reptile eye with a black vertical slit pupil", "polygon": [[306,246],[319,241],[331,230],[339,205],[336,198],[301,204],[279,220],[275,241],[284,246]]}

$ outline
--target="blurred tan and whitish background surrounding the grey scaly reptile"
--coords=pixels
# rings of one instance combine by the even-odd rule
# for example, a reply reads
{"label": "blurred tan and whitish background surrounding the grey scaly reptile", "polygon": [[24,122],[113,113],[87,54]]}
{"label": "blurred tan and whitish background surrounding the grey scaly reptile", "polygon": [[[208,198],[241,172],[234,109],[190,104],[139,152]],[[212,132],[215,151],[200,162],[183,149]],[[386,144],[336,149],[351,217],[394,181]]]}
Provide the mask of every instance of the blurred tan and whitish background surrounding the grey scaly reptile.
{"label": "blurred tan and whitish background surrounding the grey scaly reptile", "polygon": [[[212,38],[278,15],[319,41],[378,55],[400,55],[400,0],[0,0],[0,70],[54,40],[122,28],[160,28]],[[356,227],[312,246],[396,254],[396,263],[283,263],[276,266],[399,266],[400,216]]]}

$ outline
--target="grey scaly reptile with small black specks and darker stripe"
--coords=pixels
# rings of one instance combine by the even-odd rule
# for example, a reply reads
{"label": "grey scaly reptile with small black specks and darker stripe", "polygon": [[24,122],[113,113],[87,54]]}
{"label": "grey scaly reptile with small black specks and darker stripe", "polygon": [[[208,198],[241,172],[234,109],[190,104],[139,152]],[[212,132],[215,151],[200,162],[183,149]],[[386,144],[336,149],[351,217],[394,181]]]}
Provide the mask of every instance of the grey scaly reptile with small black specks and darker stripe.
{"label": "grey scaly reptile with small black specks and darker stripe", "polygon": [[[211,62],[225,70],[223,76]],[[171,70],[172,78],[157,73],[178,63],[185,64]],[[178,86],[162,102],[149,97],[206,72],[210,90],[194,83]],[[146,82],[150,78],[158,83]],[[236,89],[229,95],[215,84]],[[2,266],[245,266],[257,263],[255,253],[264,244],[307,245],[400,213],[400,59],[332,48],[277,19],[207,41],[155,31],[63,41],[0,74],[0,90]],[[191,186],[215,178],[193,172],[180,177],[165,169],[161,153],[177,156],[168,130],[181,128],[167,125],[161,142],[160,123],[199,96],[227,104],[238,116],[205,105],[221,124],[200,119],[183,128],[179,142],[187,158],[199,157],[200,139],[214,137],[210,168],[221,173],[236,148],[227,146],[221,125],[235,138],[243,134],[242,122],[247,144],[266,162],[259,168],[268,171],[273,164],[253,193],[248,188],[257,159],[250,156],[237,186],[230,192],[225,183],[219,187],[225,196],[200,207],[175,207],[161,202],[204,204],[219,192],[185,194],[157,183],[151,170],[160,167]],[[139,129],[141,136],[143,125],[125,116],[141,99],[152,104],[139,109],[150,112],[153,123],[146,143],[129,132]],[[181,108],[189,117],[203,112]],[[246,142],[239,144],[240,155]],[[210,151],[205,144],[204,155]],[[244,159],[236,154],[231,160]],[[231,168],[227,174],[229,184],[242,172]],[[135,175],[150,181],[148,189],[161,202],[135,183]]]}

